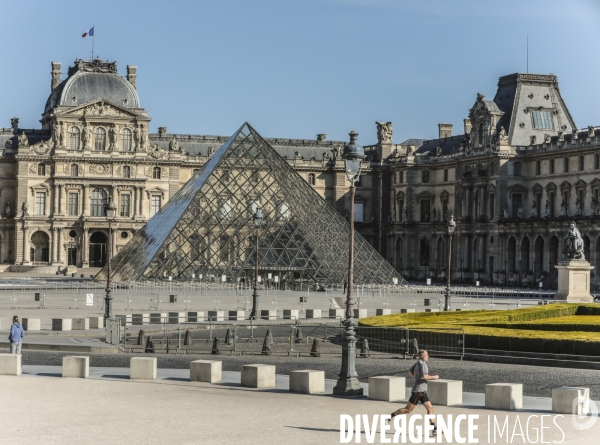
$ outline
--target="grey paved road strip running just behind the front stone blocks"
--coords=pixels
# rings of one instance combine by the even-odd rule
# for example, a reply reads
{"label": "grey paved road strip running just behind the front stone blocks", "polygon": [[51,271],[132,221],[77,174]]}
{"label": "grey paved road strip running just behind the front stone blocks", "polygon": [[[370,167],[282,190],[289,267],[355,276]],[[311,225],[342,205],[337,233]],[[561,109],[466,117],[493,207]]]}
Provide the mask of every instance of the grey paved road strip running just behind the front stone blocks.
{"label": "grey paved road strip running just behind the front stone blocks", "polygon": [[[0,350],[7,352],[7,350]],[[62,364],[62,357],[73,353],[23,351],[24,365],[54,365]],[[81,354],[83,355],[83,354]],[[138,354],[89,354],[90,366],[129,367],[129,359]],[[149,356],[151,354],[144,354]],[[298,369],[318,369],[325,371],[325,377],[336,379],[340,369],[341,359],[336,356],[322,357],[288,357],[283,355],[263,356],[244,355],[231,356],[221,354],[156,354],[159,368],[188,369],[189,363],[197,359],[218,359],[223,362],[223,370],[239,371],[243,364],[265,363],[277,366],[277,374],[287,375]],[[406,375],[412,366],[412,360],[401,357],[382,356],[381,358],[359,358],[356,370],[361,380],[367,380],[376,375]],[[480,363],[450,359],[435,359],[429,361],[432,374],[439,374],[444,379],[463,381],[463,391],[485,391],[488,383],[522,383],[523,393],[534,397],[551,397],[552,388],[559,386],[590,387],[591,398],[600,400],[600,371],[584,369],[546,368],[525,365],[505,365],[497,363]],[[408,376],[407,376],[408,377]],[[407,384],[412,380],[407,378]]]}

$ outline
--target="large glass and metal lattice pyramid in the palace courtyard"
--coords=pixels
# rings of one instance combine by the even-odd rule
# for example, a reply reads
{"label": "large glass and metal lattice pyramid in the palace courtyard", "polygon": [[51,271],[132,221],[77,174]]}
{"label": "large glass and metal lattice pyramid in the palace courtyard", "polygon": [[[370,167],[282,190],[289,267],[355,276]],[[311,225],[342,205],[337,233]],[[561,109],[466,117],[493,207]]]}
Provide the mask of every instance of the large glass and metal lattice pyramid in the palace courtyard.
{"label": "large glass and metal lattice pyramid in the palace courtyard", "polygon": [[[247,123],[115,256],[113,280],[236,281],[254,268],[257,205],[261,271],[305,271],[319,284],[346,280],[349,223]],[[405,283],[358,233],[354,243],[356,284]]]}

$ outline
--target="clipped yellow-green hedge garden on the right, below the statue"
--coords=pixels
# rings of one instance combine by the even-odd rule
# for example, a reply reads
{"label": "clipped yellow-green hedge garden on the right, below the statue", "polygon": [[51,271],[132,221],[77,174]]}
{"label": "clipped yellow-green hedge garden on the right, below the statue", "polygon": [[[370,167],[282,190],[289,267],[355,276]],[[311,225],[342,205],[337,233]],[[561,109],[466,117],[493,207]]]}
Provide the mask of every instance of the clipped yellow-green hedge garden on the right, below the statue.
{"label": "clipped yellow-green hedge garden on the right, below the statue", "polygon": [[594,304],[393,314],[364,318],[359,324],[416,331],[460,329],[466,348],[600,356],[600,305]]}

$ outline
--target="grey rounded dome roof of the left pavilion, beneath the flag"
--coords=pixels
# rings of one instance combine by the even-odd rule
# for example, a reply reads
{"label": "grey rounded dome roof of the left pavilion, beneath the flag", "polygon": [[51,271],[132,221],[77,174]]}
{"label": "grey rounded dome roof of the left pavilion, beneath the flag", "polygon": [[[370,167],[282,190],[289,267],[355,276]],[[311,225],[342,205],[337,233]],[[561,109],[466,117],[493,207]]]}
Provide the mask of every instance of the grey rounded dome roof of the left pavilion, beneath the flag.
{"label": "grey rounded dome roof of the left pavilion, beneath the flag", "polygon": [[135,88],[117,74],[116,62],[76,60],[68,74],[50,93],[45,113],[54,107],[76,107],[97,99],[106,99],[124,108],[140,108]]}

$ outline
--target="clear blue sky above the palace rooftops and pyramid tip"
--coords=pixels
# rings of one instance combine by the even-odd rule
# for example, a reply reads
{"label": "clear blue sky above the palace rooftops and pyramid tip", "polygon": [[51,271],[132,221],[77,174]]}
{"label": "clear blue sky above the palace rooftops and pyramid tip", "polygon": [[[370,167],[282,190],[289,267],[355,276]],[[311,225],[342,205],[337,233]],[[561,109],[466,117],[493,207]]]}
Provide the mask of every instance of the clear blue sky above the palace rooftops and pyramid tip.
{"label": "clear blue sky above the palace rooftops and pyramid tip", "polygon": [[558,75],[578,127],[600,125],[597,0],[2,0],[0,126],[38,120],[50,62],[95,54],[138,67],[138,93],[169,132],[376,142],[462,129],[476,93],[526,70]]}

